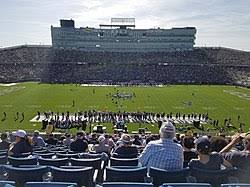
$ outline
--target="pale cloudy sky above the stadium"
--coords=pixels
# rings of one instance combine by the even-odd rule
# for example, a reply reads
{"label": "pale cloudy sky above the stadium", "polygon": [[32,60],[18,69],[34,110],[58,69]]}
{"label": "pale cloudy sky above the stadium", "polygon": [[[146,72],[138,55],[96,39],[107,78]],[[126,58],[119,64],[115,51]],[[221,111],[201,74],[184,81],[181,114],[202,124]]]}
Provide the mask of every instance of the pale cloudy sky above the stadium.
{"label": "pale cloudy sky above the stadium", "polygon": [[112,17],[136,18],[136,28],[197,28],[196,46],[250,51],[250,0],[0,0],[0,48],[51,45],[50,26],[74,19],[99,27]]}

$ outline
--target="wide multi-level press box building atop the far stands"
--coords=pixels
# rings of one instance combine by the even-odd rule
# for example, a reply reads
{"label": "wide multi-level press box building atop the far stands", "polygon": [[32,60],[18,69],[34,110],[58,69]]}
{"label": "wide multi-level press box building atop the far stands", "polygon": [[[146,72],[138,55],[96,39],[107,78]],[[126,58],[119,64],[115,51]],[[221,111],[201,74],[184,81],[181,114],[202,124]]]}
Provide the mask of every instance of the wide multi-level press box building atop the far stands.
{"label": "wide multi-level press box building atop the far stands", "polygon": [[159,52],[192,50],[195,27],[135,29],[134,18],[112,18],[100,28],[75,28],[74,20],[60,20],[51,26],[52,46],[86,51]]}

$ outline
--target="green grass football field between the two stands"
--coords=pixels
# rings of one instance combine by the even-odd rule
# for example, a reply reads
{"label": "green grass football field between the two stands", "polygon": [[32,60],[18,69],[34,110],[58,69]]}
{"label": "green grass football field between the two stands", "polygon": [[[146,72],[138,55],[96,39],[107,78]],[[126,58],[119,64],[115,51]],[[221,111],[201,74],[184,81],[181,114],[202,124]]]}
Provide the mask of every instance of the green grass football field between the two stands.
{"label": "green grass football field between the two stands", "polygon": [[[118,104],[112,102],[109,94],[119,92],[134,93],[132,99],[120,99]],[[72,107],[72,101],[75,106]],[[54,111],[71,113],[83,110],[100,111],[148,111],[207,113],[212,119],[224,123],[231,118],[238,126],[245,123],[250,127],[250,90],[232,86],[177,85],[165,87],[83,87],[73,84],[39,84],[20,83],[13,86],[0,85],[0,131],[40,129],[41,124],[29,122],[37,111]],[[16,112],[24,112],[25,119],[15,121]],[[7,119],[3,118],[7,113]],[[105,124],[110,130],[111,125]],[[152,132],[157,128],[149,125]],[[137,129],[138,124],[128,124],[129,130]]]}

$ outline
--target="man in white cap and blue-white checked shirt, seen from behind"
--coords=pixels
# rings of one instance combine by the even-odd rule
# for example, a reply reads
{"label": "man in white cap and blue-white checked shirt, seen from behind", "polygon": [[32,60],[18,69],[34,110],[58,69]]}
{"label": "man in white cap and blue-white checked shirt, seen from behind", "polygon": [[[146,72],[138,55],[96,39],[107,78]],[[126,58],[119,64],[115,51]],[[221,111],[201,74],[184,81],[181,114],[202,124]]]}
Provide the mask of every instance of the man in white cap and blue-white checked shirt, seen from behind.
{"label": "man in white cap and blue-white checked shirt, seen from behind", "polygon": [[182,146],[173,141],[175,127],[171,122],[163,122],[160,128],[160,140],[151,141],[145,147],[139,161],[142,166],[156,167],[168,171],[183,168]]}

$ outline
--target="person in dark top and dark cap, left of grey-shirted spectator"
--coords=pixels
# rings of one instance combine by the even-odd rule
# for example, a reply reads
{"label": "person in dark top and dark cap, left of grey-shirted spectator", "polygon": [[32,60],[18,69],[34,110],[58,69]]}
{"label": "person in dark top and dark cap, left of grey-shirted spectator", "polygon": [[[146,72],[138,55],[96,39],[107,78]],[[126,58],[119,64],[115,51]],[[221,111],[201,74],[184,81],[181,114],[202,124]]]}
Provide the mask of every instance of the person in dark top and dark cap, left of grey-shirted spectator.
{"label": "person in dark top and dark cap, left of grey-shirted spectator", "polygon": [[76,133],[76,139],[70,144],[70,149],[74,152],[86,152],[88,150],[85,132],[79,131]]}

